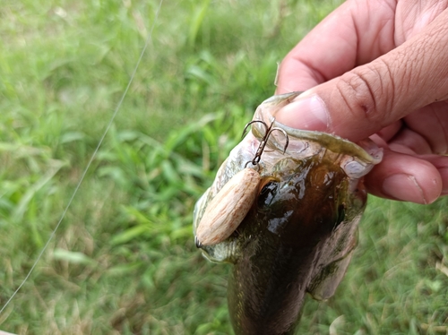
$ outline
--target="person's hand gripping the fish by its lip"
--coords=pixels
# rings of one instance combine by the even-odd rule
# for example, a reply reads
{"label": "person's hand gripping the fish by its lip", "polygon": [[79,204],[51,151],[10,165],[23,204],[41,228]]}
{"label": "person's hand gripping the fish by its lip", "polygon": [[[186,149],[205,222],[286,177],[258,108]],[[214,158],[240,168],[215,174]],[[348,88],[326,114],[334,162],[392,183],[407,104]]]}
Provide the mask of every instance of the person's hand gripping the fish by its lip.
{"label": "person's hand gripping the fish by its lip", "polygon": [[280,64],[276,93],[294,90],[280,123],[383,148],[369,193],[448,194],[448,1],[347,1]]}

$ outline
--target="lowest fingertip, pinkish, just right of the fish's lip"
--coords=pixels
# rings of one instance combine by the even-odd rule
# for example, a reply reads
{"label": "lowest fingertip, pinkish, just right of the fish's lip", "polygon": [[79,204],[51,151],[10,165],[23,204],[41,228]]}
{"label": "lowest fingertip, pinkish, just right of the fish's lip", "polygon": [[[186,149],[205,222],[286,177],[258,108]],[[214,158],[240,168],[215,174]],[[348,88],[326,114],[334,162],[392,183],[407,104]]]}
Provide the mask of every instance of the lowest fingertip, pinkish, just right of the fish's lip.
{"label": "lowest fingertip, pinkish, just right of the fish's lip", "polygon": [[434,202],[443,191],[448,191],[448,159],[444,159],[436,168],[427,159],[384,150],[383,161],[366,176],[366,189],[393,200]]}

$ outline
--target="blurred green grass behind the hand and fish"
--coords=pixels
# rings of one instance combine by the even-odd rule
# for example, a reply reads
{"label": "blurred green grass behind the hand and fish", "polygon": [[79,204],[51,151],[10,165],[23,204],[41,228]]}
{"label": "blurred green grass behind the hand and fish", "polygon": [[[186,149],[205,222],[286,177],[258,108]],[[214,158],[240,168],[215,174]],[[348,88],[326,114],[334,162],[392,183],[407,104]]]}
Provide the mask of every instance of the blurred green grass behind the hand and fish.
{"label": "blurred green grass behind the hand and fish", "polygon": [[[18,334],[231,334],[229,267],[192,208],[274,91],[277,62],[341,1],[166,0],[115,125],[36,271],[0,314]],[[0,305],[99,142],[155,0],[0,6]],[[448,214],[371,198],[349,272],[298,333],[448,333]]]}

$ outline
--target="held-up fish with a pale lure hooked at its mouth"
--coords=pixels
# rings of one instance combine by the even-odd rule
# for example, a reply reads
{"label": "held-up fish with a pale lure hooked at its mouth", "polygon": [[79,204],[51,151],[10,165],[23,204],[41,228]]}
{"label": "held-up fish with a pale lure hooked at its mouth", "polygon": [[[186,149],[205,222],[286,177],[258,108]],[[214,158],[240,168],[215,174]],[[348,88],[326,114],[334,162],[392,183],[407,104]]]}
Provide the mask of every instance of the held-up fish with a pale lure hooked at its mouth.
{"label": "held-up fish with a pale lure hooked at its mouth", "polygon": [[[194,206],[196,246],[211,262],[233,264],[228,311],[237,335],[294,334],[306,293],[334,295],[357,246],[363,177],[382,159],[368,139],[353,143],[277,122],[299,94],[256,108],[251,132]],[[267,134],[267,127],[280,131]]]}

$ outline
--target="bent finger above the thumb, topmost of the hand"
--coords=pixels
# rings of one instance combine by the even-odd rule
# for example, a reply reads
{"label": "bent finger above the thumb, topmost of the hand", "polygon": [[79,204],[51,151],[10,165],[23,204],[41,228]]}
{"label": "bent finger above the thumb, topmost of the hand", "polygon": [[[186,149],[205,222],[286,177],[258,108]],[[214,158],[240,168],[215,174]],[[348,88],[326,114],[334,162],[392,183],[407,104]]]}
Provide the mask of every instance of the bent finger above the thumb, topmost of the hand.
{"label": "bent finger above the thumb, topmost of the hand", "polygon": [[392,50],[394,3],[340,5],[283,59],[276,93],[308,90]]}

